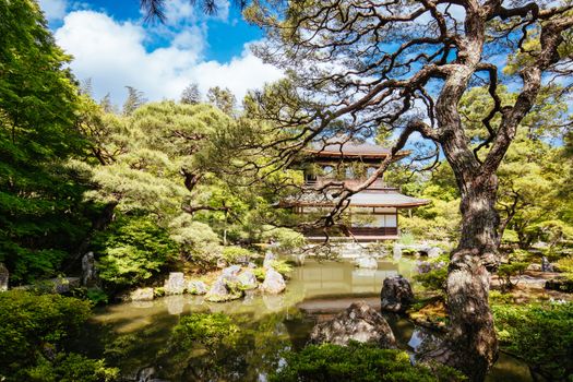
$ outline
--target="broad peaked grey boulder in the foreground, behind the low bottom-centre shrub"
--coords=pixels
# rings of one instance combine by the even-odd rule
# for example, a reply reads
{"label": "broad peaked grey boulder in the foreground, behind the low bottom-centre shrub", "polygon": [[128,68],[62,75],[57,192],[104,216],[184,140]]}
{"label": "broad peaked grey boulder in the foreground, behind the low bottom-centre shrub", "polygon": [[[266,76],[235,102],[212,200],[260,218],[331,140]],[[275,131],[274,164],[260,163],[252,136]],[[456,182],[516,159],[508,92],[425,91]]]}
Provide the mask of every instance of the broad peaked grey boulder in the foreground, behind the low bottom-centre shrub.
{"label": "broad peaked grey boulder in the foreground, behind the low bottom-centre shrub", "polygon": [[310,341],[314,344],[348,345],[350,341],[395,348],[396,338],[386,320],[366,302],[354,302],[330,321],[312,329]]}

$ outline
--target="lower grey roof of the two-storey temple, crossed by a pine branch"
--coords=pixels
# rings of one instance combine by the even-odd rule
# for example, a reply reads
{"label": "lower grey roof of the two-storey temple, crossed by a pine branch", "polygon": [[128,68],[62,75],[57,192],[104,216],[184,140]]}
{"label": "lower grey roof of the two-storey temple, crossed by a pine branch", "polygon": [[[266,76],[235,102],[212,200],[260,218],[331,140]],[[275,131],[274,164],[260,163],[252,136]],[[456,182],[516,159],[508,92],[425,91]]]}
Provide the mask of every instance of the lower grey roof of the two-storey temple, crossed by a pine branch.
{"label": "lower grey roof of the two-storey temple, crossed by a pine branch", "polygon": [[[362,191],[350,198],[350,206],[357,207],[396,207],[408,208],[430,203],[426,199],[417,199],[399,193],[397,190]],[[330,206],[338,202],[337,198],[329,194],[305,193],[290,198],[284,202],[288,205]]]}

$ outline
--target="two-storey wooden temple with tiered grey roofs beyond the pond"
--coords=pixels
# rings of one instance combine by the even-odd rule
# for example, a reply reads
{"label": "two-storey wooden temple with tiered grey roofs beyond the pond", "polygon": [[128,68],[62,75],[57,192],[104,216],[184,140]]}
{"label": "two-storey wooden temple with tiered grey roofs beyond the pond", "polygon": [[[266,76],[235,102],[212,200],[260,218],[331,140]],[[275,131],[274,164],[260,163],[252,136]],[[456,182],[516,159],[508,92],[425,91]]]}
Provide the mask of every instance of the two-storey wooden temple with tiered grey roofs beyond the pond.
{"label": "two-storey wooden temple with tiered grey roofs beyond the pond", "polygon": [[[283,206],[295,213],[320,216],[338,202],[338,191],[344,186],[355,187],[369,178],[378,166],[390,155],[390,150],[369,143],[329,143],[320,150],[307,150],[305,159],[297,163],[297,168],[305,172],[302,192],[284,201]],[[408,152],[395,155],[399,160]],[[324,190],[329,182],[337,183]],[[390,186],[384,179],[377,179],[363,191],[349,198],[348,207],[342,217],[343,228],[329,228],[330,239],[354,239],[357,241],[377,241],[399,237],[398,210],[413,208],[428,204],[428,200],[410,198],[399,192],[397,186]],[[309,217],[311,217],[309,216]],[[324,240],[324,228],[307,229],[307,238]]]}

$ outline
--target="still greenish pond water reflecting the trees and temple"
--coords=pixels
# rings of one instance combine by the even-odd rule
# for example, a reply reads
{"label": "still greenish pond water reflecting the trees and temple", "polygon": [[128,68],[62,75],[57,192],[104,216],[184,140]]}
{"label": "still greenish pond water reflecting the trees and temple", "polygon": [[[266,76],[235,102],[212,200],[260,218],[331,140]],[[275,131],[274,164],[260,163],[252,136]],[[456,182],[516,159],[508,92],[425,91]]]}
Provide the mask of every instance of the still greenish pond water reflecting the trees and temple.
{"label": "still greenish pond water reflecting the trees and temple", "polygon": [[[169,296],[154,301],[129,302],[96,311],[81,346],[91,356],[105,356],[128,381],[266,381],[283,362],[280,353],[299,349],[312,326],[332,318],[353,301],[380,308],[385,277],[411,278],[415,263],[381,261],[379,268],[360,270],[349,262],[307,260],[295,267],[287,290],[278,296],[248,295],[225,303],[203,301],[201,296]],[[232,346],[193,347],[181,351],[172,329],[192,312],[223,312],[240,327]],[[433,333],[409,321],[386,314],[398,346],[410,354],[434,338]],[[502,355],[489,381],[530,381],[528,369]]]}

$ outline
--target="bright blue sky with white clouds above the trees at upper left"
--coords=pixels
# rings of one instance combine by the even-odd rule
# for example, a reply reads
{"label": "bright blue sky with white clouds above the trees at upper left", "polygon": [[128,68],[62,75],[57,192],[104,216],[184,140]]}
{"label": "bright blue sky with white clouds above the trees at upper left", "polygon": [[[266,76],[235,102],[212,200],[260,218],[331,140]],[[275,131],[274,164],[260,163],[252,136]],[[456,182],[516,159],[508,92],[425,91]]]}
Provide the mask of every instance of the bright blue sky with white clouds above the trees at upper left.
{"label": "bright blue sky with white clouds above the trees at upper left", "polygon": [[262,31],[220,0],[207,16],[189,0],[168,0],[165,24],[145,22],[139,0],[39,0],[56,40],[73,56],[75,76],[91,81],[95,99],[109,93],[116,105],[133,86],[148,100],[178,99],[191,83],[205,94],[228,87],[241,99],[282,73],[249,46]]}

